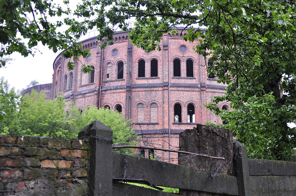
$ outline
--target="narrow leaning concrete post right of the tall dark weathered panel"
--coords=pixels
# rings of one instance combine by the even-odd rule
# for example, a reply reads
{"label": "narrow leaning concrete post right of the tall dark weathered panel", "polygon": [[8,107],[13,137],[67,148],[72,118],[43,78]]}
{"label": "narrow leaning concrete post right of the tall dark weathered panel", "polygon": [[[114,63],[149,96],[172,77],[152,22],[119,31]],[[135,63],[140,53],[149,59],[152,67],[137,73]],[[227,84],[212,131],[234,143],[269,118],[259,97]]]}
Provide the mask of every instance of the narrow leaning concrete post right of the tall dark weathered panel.
{"label": "narrow leaning concrete post right of the tall dark weathered panel", "polygon": [[248,154],[246,146],[242,145],[238,141],[234,140],[233,143],[234,151],[234,169],[236,170],[237,176],[237,186],[239,190],[239,196],[250,196],[249,188],[249,164],[248,164]]}

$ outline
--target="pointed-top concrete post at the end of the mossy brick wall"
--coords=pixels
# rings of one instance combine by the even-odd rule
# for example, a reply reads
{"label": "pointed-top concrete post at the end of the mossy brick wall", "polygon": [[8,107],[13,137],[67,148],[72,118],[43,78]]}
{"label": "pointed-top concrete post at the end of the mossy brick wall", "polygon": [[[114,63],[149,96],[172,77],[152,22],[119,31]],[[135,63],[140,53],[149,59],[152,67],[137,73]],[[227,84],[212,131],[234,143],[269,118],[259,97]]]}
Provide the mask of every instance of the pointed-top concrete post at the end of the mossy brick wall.
{"label": "pointed-top concrete post at the end of the mossy brick wall", "polygon": [[78,133],[79,139],[89,138],[89,195],[112,196],[112,130],[96,120]]}

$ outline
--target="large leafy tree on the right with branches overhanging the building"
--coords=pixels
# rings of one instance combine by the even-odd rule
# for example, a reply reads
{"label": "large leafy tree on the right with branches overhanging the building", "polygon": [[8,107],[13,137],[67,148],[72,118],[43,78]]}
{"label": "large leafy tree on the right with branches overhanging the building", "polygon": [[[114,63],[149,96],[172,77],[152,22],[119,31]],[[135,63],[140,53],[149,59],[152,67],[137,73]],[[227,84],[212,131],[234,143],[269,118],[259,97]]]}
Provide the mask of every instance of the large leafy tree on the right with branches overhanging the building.
{"label": "large leafy tree on the right with branches overhanging the building", "polygon": [[[221,115],[244,143],[251,157],[290,160],[295,152],[296,6],[281,0],[83,1],[75,14],[86,17],[72,28],[98,27],[99,39],[112,43],[114,27],[128,30],[131,42],[146,52],[160,50],[160,39],[172,27],[193,24],[185,40],[198,39],[194,49],[214,62],[209,74],[228,84],[225,96],[207,108]],[[86,25],[87,24],[87,25]],[[176,32],[172,30],[172,32]],[[283,92],[285,93],[284,95]],[[231,101],[235,111],[215,105]],[[258,142],[256,142],[258,141]]]}

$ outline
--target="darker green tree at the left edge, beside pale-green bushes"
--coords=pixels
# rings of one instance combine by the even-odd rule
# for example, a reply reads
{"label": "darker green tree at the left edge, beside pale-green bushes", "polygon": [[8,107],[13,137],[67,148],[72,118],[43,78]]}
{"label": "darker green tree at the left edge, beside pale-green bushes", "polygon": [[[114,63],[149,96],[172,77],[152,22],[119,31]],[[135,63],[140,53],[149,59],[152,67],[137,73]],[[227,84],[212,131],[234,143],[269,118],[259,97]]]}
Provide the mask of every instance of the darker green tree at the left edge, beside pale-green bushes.
{"label": "darker green tree at the left edge, beside pale-green bushes", "polygon": [[14,88],[9,88],[7,80],[0,78],[0,133],[4,131],[15,118],[20,100],[20,94]]}

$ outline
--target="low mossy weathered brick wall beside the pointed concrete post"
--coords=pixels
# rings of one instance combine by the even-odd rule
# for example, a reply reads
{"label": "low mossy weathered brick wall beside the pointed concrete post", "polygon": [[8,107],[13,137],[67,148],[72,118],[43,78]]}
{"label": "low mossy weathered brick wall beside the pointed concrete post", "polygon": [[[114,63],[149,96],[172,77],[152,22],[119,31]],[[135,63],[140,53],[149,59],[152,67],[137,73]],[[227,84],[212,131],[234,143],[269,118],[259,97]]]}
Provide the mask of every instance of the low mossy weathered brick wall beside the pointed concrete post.
{"label": "low mossy weathered brick wall beside the pointed concrete post", "polygon": [[87,141],[0,135],[0,195],[87,195]]}

